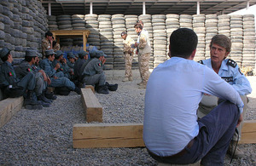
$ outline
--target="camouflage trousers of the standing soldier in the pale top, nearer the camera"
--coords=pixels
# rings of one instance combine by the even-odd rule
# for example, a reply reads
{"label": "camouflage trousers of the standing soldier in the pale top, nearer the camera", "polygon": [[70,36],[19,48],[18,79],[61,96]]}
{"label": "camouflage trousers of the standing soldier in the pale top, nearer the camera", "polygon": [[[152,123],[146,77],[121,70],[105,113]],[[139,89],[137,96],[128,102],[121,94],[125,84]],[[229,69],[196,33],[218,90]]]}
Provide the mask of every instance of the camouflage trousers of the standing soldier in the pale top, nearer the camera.
{"label": "camouflage trousers of the standing soldier in the pale top, nearer the camera", "polygon": [[150,53],[140,54],[138,53],[138,67],[142,78],[142,83],[146,85],[148,83],[148,77],[149,77],[149,59],[150,59]]}

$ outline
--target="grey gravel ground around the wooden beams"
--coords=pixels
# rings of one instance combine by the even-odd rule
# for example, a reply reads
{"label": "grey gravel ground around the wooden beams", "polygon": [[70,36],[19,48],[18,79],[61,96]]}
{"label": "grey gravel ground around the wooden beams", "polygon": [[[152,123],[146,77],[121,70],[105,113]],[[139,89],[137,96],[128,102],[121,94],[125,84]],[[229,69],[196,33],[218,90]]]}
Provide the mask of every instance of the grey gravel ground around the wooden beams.
{"label": "grey gravel ground around the wooden beams", "polygon": [[[103,123],[143,123],[145,89],[140,80],[119,83],[110,94],[96,94],[103,106]],[[250,77],[255,83],[256,77]],[[252,84],[253,85],[253,84]],[[256,93],[249,95],[246,119],[256,119]],[[73,149],[73,124],[86,123],[80,95],[58,96],[44,110],[21,109],[0,129],[0,165],[157,165],[145,148]],[[225,165],[256,165],[256,145],[239,145],[245,157],[225,157]]]}

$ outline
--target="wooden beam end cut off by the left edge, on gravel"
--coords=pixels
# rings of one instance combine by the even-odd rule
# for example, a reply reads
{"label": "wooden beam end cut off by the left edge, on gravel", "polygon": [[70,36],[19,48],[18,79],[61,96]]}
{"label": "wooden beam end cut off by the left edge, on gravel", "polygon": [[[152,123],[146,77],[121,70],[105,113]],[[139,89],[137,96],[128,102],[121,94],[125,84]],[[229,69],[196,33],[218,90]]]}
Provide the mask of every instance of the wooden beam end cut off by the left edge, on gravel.
{"label": "wooden beam end cut off by the left edge, on gravel", "polygon": [[20,96],[18,98],[7,98],[0,101],[0,128],[20,111],[23,100],[23,96]]}

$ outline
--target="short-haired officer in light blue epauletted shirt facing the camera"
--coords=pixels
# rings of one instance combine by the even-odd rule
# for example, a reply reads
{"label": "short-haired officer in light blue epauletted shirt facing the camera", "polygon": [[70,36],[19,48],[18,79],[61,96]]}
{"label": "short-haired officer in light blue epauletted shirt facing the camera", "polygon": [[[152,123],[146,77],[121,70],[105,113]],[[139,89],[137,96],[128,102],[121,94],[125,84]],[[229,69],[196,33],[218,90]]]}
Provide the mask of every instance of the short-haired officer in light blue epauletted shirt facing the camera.
{"label": "short-haired officer in light blue epauletted shirt facing the camera", "polygon": [[[242,116],[245,117],[247,110],[247,94],[251,94],[252,88],[241,71],[239,66],[236,64],[236,61],[226,59],[230,54],[231,50],[231,41],[229,37],[224,35],[216,35],[212,37],[212,41],[210,43],[210,54],[211,58],[207,60],[199,61],[201,64],[206,65],[214,72],[218,74],[219,77],[223,78],[224,81],[230,83],[230,85],[236,89],[238,94],[241,95],[241,100],[244,103]],[[212,108],[218,105],[218,99],[216,96],[212,96],[209,94],[205,94],[198,109],[198,117],[204,117],[207,113],[211,112]],[[239,135],[241,137],[241,125],[238,127]],[[236,145],[236,141],[238,140],[238,135],[235,134],[233,140],[230,143],[230,148],[228,152],[233,154],[233,146]],[[240,149],[236,149],[234,157],[242,157],[243,152]]]}

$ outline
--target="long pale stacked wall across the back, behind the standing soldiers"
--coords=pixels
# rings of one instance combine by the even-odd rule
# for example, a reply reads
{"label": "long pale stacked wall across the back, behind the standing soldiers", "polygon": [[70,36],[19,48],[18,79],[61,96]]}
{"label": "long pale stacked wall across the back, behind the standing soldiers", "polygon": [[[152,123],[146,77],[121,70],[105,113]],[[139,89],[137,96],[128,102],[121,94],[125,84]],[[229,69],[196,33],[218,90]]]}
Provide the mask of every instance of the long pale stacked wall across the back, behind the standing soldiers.
{"label": "long pale stacked wall across the back, behind the standing soldiers", "polygon": [[[58,18],[62,18],[58,20]],[[67,18],[63,21],[63,18]],[[77,18],[76,21],[73,18]],[[55,29],[88,29],[88,43],[108,54],[107,69],[124,69],[123,43],[121,31],[137,41],[133,26],[137,20],[143,20],[144,28],[148,31],[151,44],[149,67],[154,68],[169,59],[168,45],[172,31],[179,27],[193,29],[198,37],[198,47],[195,60],[210,57],[209,43],[216,34],[230,37],[232,49],[229,58],[236,60],[239,66],[255,67],[255,26],[254,15],[217,15],[217,14],[86,14],[49,16],[49,30]],[[61,45],[76,45],[75,38],[63,39]],[[133,66],[137,66],[137,54]]]}

